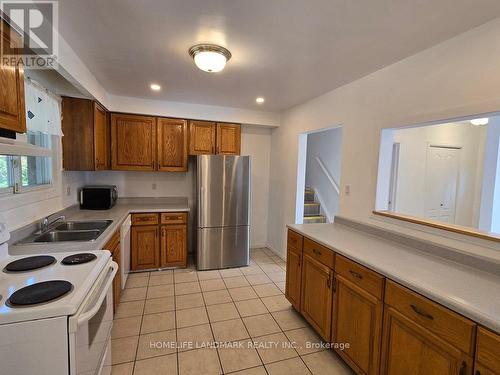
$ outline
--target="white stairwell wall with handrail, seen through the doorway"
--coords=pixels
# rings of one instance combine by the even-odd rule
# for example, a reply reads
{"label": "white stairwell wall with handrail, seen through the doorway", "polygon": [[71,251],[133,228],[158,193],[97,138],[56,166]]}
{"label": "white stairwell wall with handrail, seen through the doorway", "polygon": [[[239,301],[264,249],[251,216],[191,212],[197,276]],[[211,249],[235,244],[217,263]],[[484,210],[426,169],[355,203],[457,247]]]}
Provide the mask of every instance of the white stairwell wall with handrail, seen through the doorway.
{"label": "white stairwell wall with handrail, seen through the doorway", "polygon": [[339,195],[317,158],[338,185],[342,157],[342,128],[327,129],[307,135],[306,186],[313,188],[321,208],[331,222],[338,212]]}

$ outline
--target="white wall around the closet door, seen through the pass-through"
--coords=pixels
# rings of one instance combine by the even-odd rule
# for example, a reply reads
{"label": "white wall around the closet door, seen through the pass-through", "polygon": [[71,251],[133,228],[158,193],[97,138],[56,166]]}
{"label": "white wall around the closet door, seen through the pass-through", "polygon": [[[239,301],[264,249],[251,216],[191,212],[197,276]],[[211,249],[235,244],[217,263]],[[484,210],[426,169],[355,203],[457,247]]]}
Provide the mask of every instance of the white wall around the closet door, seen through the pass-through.
{"label": "white wall around the closet door, seen through the pass-through", "polygon": [[[400,144],[395,211],[425,218],[429,145],[461,147],[455,224],[477,228],[475,210],[479,207],[482,182],[477,178],[477,171],[483,164],[485,137],[485,126],[468,122],[394,130],[393,141]],[[381,153],[384,152],[381,150]]]}

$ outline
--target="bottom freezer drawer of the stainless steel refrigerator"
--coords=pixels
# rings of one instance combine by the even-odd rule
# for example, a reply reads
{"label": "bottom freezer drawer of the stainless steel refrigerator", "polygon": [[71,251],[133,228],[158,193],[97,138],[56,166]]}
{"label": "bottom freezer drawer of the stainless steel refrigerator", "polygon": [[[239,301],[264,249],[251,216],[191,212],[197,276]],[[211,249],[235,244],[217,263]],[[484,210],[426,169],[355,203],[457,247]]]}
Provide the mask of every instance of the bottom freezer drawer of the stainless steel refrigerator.
{"label": "bottom freezer drawer of the stainless steel refrigerator", "polygon": [[198,228],[198,270],[248,266],[250,227]]}

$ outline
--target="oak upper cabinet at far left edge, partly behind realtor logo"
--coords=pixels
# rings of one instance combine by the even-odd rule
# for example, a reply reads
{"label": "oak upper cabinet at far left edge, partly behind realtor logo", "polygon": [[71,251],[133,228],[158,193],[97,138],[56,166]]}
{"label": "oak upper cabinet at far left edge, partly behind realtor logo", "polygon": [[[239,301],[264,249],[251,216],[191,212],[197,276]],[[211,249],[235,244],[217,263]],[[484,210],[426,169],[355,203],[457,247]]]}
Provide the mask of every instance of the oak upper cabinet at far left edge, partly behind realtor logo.
{"label": "oak upper cabinet at far left edge, partly behind realtor logo", "polygon": [[[11,40],[10,26],[0,20],[2,54],[14,54],[11,43],[21,48],[21,38]],[[17,34],[14,34],[17,35]],[[14,36],[15,37],[15,36]],[[17,133],[26,133],[26,109],[24,104],[24,70],[21,65],[15,68],[0,62],[0,128]]]}

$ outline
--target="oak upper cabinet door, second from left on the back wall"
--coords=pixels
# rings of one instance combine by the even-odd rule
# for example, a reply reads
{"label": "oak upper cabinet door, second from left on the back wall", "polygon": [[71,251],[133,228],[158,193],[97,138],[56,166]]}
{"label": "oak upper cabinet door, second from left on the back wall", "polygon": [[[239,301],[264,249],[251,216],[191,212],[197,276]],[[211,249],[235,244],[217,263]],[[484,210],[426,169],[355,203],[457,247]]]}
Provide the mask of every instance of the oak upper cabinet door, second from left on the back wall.
{"label": "oak upper cabinet door, second from left on the back wall", "polygon": [[187,121],[159,118],[157,122],[158,170],[169,172],[187,171]]}

